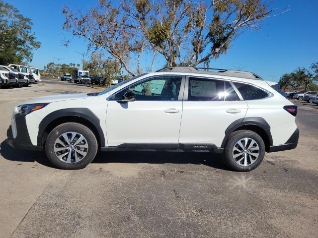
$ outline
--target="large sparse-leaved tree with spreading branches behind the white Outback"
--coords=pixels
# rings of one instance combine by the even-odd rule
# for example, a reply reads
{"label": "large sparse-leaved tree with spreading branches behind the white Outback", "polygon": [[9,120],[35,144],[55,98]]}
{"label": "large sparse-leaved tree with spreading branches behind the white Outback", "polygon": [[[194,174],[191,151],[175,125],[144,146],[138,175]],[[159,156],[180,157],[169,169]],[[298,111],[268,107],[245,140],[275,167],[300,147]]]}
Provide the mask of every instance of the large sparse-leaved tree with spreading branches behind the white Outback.
{"label": "large sparse-leaved tree with spreading branches behind the white Outback", "polygon": [[282,13],[275,10],[262,0],[123,0],[118,6],[99,0],[84,14],[68,7],[63,13],[64,29],[103,48],[135,75],[129,60],[136,57],[140,73],[146,51],[161,54],[167,66],[209,65],[244,31]]}

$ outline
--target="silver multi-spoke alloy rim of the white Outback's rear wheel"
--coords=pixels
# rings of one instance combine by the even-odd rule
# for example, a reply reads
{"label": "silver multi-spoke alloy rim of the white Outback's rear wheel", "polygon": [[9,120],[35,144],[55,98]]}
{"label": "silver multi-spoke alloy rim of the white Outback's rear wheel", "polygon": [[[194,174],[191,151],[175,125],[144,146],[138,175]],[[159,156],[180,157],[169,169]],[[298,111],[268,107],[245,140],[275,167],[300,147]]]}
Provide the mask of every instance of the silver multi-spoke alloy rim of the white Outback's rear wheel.
{"label": "silver multi-spoke alloy rim of the white Outback's rear wheel", "polygon": [[251,138],[241,138],[235,143],[232,156],[238,165],[250,166],[259,156],[259,146],[257,142]]}

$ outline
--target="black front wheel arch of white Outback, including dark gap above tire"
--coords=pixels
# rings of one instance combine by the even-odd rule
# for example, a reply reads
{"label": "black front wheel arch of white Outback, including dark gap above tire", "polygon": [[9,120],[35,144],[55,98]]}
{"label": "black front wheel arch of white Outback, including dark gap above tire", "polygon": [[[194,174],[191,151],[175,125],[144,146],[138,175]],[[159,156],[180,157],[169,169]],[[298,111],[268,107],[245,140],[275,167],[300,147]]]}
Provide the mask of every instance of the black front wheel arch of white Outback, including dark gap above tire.
{"label": "black front wheel arch of white Outback, including dark gap above tire", "polygon": [[65,122],[78,122],[87,126],[96,136],[98,146],[105,146],[105,137],[99,119],[87,108],[61,109],[48,114],[39,124],[37,145],[43,148],[48,134],[56,126]]}

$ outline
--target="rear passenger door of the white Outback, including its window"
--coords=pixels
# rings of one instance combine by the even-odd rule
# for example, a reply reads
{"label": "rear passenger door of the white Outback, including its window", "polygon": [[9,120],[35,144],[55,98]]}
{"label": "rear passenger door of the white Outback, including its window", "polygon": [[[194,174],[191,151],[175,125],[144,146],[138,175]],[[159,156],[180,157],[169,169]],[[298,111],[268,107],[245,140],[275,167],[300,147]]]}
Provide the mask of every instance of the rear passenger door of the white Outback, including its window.
{"label": "rear passenger door of the white Outback, including its window", "polygon": [[225,130],[246,112],[247,104],[240,100],[232,82],[187,77],[179,143],[188,148],[221,147]]}

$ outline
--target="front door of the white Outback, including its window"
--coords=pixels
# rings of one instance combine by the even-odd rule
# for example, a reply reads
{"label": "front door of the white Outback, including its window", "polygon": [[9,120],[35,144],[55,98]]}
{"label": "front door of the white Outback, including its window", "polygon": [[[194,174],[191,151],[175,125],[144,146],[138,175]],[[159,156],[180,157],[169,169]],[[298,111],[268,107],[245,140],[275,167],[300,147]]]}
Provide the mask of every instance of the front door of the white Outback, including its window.
{"label": "front door of the white Outback, including its window", "polygon": [[[112,95],[106,113],[108,146],[177,148],[185,78],[156,76]],[[135,101],[121,103],[127,91]]]}

